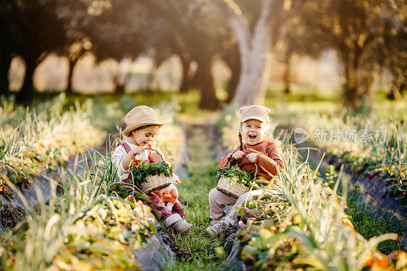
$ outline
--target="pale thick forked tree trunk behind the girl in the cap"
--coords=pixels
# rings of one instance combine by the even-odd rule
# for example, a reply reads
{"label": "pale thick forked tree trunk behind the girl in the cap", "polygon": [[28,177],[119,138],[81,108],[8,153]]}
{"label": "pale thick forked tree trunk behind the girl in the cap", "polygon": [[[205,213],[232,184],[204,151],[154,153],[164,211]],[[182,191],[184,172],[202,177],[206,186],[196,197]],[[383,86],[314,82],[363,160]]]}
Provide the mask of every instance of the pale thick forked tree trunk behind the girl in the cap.
{"label": "pale thick forked tree trunk behind the girl in the cap", "polygon": [[[253,2],[238,5],[232,0],[211,1],[226,17],[239,45],[241,72],[232,102],[238,105],[264,103],[271,68],[270,48],[301,2],[261,0],[255,2],[260,5]],[[258,9],[253,10],[256,7]],[[253,13],[258,16],[249,16]]]}

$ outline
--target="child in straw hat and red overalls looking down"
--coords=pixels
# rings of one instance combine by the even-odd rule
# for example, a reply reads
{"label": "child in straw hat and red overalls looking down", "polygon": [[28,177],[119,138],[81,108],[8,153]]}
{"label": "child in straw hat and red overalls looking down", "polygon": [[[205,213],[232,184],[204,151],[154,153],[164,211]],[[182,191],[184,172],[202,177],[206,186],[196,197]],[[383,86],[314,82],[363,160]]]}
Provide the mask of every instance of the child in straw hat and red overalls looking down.
{"label": "child in straw hat and red overalls looking down", "polygon": [[[131,183],[130,173],[121,173],[128,170],[132,163],[137,165],[142,160],[150,164],[163,160],[161,155],[150,149],[150,142],[156,137],[158,129],[164,124],[158,122],[154,109],[145,105],[131,109],[126,115],[125,122],[127,127],[123,134],[128,138],[118,144],[111,160],[117,166],[122,182]],[[162,191],[155,191],[147,196],[151,202],[140,200],[146,204],[154,204],[161,214],[161,219],[165,220],[166,225],[172,226],[180,232],[184,232],[192,226],[184,220],[184,207],[178,200],[173,201],[173,203],[168,202],[165,205],[162,201]]]}

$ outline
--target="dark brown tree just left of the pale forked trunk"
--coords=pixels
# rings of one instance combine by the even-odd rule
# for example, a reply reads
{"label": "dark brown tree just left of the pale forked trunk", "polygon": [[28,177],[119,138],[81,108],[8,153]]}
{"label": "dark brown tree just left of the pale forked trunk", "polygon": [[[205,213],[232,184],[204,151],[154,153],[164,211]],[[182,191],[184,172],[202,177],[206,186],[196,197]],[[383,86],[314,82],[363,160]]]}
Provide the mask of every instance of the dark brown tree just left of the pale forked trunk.
{"label": "dark brown tree just left of the pale forked trunk", "polygon": [[[222,48],[224,38],[219,31],[222,23],[213,16],[205,1],[140,1],[163,18],[177,35],[180,47],[197,63],[196,78],[201,90],[200,108],[216,109],[219,101],[215,95],[211,73],[212,58]],[[210,24],[211,27],[202,27]],[[220,38],[219,38],[220,37]]]}

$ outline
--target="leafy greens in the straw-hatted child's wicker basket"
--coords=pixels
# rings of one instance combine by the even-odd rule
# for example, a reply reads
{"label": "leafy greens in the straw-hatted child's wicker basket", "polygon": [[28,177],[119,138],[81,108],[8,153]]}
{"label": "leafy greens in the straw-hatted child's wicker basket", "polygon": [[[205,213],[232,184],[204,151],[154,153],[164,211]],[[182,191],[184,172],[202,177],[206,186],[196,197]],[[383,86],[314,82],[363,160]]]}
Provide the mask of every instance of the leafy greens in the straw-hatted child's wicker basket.
{"label": "leafy greens in the straw-hatted child's wicker basket", "polygon": [[161,173],[166,177],[172,176],[172,165],[169,166],[164,161],[151,164],[141,161],[137,166],[130,168],[130,171],[133,174],[135,185],[139,187],[141,183],[147,183],[146,177],[148,176],[160,175]]}

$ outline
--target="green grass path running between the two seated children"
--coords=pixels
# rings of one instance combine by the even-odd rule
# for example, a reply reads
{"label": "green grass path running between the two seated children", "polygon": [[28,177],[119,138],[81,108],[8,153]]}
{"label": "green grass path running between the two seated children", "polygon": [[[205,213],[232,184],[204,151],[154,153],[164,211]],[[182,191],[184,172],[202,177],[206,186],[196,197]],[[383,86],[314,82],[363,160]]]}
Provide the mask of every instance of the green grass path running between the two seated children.
{"label": "green grass path running between the two seated children", "polygon": [[[221,237],[210,236],[205,229],[209,218],[209,191],[216,186],[212,175],[217,160],[211,151],[213,139],[209,138],[208,127],[194,126],[189,129],[189,161],[187,170],[190,177],[181,180],[179,198],[184,204],[186,219],[193,225],[185,234],[173,232],[177,245],[185,251],[175,258],[167,269],[172,270],[222,270],[227,255],[222,249]],[[213,143],[212,143],[213,144]],[[218,253],[216,252],[218,251]]]}

